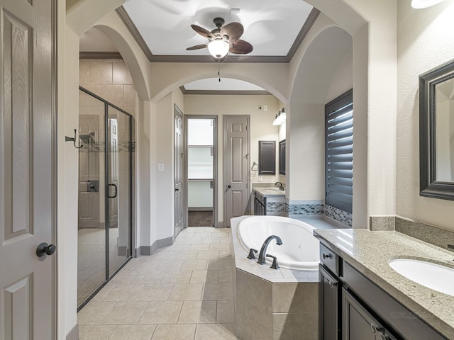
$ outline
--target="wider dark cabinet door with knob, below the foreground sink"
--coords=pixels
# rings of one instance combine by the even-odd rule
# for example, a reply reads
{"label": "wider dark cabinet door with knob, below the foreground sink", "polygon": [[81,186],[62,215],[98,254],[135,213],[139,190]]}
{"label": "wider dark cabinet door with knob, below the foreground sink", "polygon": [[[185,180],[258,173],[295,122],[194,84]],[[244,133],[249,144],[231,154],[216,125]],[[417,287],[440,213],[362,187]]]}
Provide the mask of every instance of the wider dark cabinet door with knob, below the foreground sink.
{"label": "wider dark cabinet door with knob, below the foreground sink", "polygon": [[343,340],[396,340],[345,288],[342,288]]}

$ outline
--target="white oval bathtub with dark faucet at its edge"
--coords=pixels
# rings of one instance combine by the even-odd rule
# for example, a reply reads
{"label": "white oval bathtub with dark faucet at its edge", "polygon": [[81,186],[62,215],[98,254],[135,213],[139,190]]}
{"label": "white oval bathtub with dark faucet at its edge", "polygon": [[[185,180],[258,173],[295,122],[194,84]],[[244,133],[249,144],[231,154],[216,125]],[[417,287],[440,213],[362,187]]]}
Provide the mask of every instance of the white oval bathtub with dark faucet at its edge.
{"label": "white oval bathtub with dark faucet at its edge", "polygon": [[[319,269],[319,241],[314,237],[311,225],[280,216],[251,216],[238,223],[238,238],[246,251],[250,248],[260,251],[267,237],[276,235],[282,239],[278,246],[273,239],[267,247],[267,254],[277,257],[282,268],[301,271]],[[258,254],[257,254],[258,256]],[[272,259],[266,259],[271,263]]]}

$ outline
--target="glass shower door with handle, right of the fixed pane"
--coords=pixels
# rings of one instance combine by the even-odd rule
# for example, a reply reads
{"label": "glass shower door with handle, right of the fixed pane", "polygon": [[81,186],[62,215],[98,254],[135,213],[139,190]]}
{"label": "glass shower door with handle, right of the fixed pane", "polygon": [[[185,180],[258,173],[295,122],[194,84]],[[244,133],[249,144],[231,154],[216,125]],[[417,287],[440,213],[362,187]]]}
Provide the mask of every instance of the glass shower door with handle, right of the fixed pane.
{"label": "glass shower door with handle, right of the fixed pane", "polygon": [[131,118],[111,106],[106,140],[110,278],[131,256]]}

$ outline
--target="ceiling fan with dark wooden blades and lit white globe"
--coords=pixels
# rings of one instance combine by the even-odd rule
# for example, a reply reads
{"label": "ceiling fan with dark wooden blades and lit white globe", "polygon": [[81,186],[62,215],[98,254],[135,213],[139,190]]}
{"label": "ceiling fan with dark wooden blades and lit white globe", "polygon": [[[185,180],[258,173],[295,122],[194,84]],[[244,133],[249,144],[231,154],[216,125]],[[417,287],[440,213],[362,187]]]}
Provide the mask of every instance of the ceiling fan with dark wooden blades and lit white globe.
{"label": "ceiling fan with dark wooden blades and lit white globe", "polygon": [[233,22],[223,26],[225,23],[223,18],[214,18],[213,22],[216,25],[216,28],[211,31],[194,24],[191,25],[192,29],[195,30],[196,33],[208,38],[209,42],[206,44],[187,47],[187,51],[199,50],[201,48],[208,47],[210,54],[214,57],[216,62],[222,62],[225,60],[228,52],[236,55],[247,55],[252,52],[253,45],[250,45],[249,42],[240,39],[244,32],[243,25]]}

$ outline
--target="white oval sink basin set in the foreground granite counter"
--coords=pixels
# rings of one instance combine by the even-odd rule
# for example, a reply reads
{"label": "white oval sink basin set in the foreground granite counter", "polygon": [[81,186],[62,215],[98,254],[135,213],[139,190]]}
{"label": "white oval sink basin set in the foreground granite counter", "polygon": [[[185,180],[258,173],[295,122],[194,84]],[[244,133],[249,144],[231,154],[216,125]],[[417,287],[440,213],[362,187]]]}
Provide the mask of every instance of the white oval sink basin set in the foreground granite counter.
{"label": "white oval sink basin set in the foreground granite counter", "polygon": [[414,259],[394,259],[389,261],[389,266],[409,280],[454,296],[454,269],[452,268]]}

